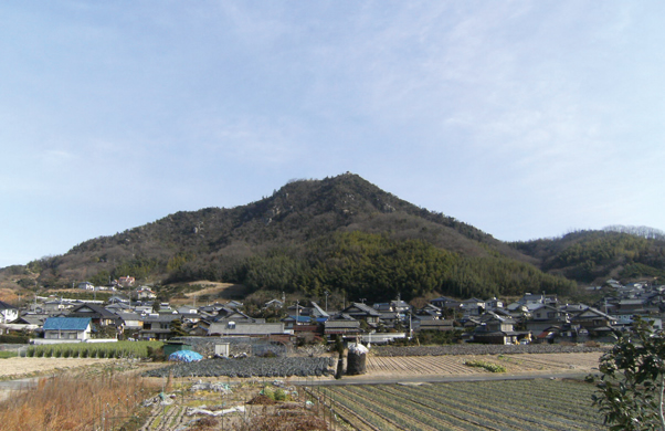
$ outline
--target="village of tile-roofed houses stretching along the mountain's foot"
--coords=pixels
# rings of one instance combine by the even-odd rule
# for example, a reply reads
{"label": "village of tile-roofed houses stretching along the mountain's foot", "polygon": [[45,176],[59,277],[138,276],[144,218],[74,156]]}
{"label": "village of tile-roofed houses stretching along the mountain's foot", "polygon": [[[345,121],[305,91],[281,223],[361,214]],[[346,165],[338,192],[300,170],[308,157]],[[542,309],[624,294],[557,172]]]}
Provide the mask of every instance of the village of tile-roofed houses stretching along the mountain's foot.
{"label": "village of tile-roofed houses stretching along the mountain's foot", "polygon": [[[527,293],[504,304],[497,298],[436,297],[421,307],[395,298],[370,304],[350,302],[328,309],[316,302],[287,304],[284,297],[263,304],[261,315],[244,312],[241,301],[204,305],[158,302],[149,286],[130,276],[114,286],[84,282],[82,291],[108,291],[106,302],[36,296],[14,307],[0,302],[0,332],[30,336],[31,344],[168,340],[175,337],[252,337],[297,345],[332,343],[337,337],[365,344],[408,340],[421,334],[447,334],[447,341],[535,344],[611,341],[636,316],[662,328],[665,286],[647,283],[604,284],[611,294],[594,304],[569,304],[557,295]],[[600,290],[601,287],[592,287]],[[131,298],[131,299],[130,299]],[[327,299],[327,298],[326,298]],[[275,317],[277,316],[277,317]]]}

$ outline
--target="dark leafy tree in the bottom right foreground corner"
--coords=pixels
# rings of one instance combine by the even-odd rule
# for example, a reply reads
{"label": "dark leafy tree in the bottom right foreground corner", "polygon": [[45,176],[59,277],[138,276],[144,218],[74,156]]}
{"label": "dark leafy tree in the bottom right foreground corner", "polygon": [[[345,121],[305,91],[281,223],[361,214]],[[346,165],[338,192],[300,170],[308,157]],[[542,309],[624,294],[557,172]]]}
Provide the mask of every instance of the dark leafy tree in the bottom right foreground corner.
{"label": "dark leafy tree in the bottom right foreground corner", "polygon": [[610,430],[665,431],[665,333],[637,318],[600,359],[592,396]]}

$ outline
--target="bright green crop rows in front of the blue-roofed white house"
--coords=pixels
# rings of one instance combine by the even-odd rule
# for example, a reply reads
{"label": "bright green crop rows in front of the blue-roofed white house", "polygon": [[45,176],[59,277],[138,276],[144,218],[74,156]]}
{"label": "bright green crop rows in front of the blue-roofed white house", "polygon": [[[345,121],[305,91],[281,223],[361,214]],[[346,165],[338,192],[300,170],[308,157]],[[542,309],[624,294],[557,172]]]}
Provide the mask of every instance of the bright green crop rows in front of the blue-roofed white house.
{"label": "bright green crop rows in front of the blue-roofed white house", "polygon": [[34,358],[146,358],[161,341],[71,343],[29,347],[25,356]]}

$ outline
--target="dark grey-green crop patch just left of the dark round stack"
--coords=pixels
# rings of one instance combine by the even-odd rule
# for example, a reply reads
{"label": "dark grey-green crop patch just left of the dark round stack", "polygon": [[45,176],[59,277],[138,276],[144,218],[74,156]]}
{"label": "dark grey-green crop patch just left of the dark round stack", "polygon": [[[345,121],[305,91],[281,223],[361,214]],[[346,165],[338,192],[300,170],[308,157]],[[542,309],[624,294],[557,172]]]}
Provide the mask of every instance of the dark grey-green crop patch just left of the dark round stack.
{"label": "dark grey-green crop patch just left of the dark round stack", "polygon": [[208,359],[199,362],[177,364],[144,372],[145,377],[291,377],[334,375],[334,358],[242,358]]}

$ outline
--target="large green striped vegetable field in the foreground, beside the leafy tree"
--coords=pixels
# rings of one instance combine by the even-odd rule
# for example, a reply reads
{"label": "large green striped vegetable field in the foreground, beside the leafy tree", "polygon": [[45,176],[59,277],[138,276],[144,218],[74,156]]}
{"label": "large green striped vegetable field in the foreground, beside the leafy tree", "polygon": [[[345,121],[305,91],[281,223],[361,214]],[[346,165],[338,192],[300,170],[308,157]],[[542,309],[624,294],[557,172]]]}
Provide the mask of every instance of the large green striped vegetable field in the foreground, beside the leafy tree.
{"label": "large green striped vegetable field in the foreground, beside the leafy tree", "polygon": [[592,385],[504,380],[319,387],[359,430],[605,430]]}

